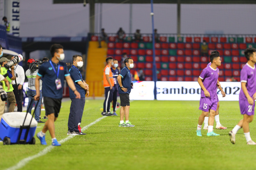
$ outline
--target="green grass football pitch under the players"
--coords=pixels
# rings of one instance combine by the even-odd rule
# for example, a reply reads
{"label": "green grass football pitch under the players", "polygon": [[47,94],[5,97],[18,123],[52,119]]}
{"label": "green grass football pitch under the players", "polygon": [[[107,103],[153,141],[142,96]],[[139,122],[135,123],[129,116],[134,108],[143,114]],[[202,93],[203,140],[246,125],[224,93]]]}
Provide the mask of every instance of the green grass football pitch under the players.
{"label": "green grass football pitch under the players", "polygon": [[[58,141],[67,137],[70,103],[62,103],[55,122]],[[102,105],[103,100],[85,103],[81,127],[102,117]],[[75,136],[22,169],[256,169],[256,148],[246,144],[243,130],[238,131],[235,145],[229,141],[228,132],[242,119],[238,102],[220,102],[220,122],[228,129],[215,129],[220,134],[217,137],[207,137],[206,130],[202,130],[202,137],[196,136],[201,114],[198,107],[199,101],[132,101],[129,118],[134,128],[118,127],[119,116],[106,117],[89,127],[87,135]],[[38,124],[36,133],[42,128],[43,124]],[[256,140],[254,122],[250,123],[250,133]],[[49,132],[46,142],[51,144]],[[37,138],[35,145],[0,143],[0,169],[46,147]]]}

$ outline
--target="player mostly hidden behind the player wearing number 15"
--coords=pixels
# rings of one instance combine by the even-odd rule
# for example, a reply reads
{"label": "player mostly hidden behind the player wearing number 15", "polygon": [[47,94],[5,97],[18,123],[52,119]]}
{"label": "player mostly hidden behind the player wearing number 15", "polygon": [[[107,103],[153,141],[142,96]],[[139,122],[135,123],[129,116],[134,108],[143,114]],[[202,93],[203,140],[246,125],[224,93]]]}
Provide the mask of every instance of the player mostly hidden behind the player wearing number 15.
{"label": "player mostly hidden behind the player wearing number 15", "polygon": [[[219,51],[217,51],[217,50],[214,50],[214,51],[211,52],[211,54],[213,54],[213,53],[217,53],[217,54],[220,56],[220,53],[219,53]],[[207,67],[208,67],[208,66],[211,66],[211,62],[209,62],[209,63],[207,64]],[[218,83],[220,83],[219,80],[218,80]],[[216,88],[218,88],[218,87],[216,87]],[[222,97],[225,97],[225,96],[226,96],[226,93],[223,91],[223,89],[221,88],[221,86],[219,87],[219,89],[220,89],[220,92],[221,92],[221,94],[222,94]],[[217,110],[216,110],[216,115],[214,116],[214,119],[215,119],[215,121],[216,121],[216,129],[227,129],[226,127],[222,126],[221,123],[220,123],[220,117],[219,117],[220,103],[219,103],[218,95],[217,95],[217,101],[218,101],[218,103],[217,103]],[[204,126],[203,126],[203,129],[204,129],[204,130],[208,130],[208,120],[209,120],[209,115],[207,115],[207,116],[204,118]]]}

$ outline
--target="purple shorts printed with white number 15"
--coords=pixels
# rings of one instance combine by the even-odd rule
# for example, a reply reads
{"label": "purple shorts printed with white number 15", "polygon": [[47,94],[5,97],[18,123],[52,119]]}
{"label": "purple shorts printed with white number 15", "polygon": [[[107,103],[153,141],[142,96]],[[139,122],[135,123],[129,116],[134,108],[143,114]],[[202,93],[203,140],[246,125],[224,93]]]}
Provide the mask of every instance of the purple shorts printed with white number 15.
{"label": "purple shorts printed with white number 15", "polygon": [[209,112],[210,109],[217,110],[217,98],[201,98],[199,110]]}

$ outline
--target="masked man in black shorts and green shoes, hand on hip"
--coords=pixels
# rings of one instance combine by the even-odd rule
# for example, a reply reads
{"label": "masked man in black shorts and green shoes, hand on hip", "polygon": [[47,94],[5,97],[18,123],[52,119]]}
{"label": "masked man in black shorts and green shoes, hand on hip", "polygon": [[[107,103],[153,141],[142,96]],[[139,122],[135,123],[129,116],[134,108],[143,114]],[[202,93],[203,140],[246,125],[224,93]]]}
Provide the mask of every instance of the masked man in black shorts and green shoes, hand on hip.
{"label": "masked man in black shorts and green shoes, hand on hip", "polygon": [[[120,74],[117,77],[118,81],[118,93],[120,96],[120,123],[119,127],[135,127],[129,121],[129,109],[130,109],[130,98],[129,94],[131,88],[133,88],[133,83],[131,82],[131,73],[130,69],[133,68],[132,58],[125,59],[125,67],[121,70]],[[124,122],[125,116],[125,122]]]}

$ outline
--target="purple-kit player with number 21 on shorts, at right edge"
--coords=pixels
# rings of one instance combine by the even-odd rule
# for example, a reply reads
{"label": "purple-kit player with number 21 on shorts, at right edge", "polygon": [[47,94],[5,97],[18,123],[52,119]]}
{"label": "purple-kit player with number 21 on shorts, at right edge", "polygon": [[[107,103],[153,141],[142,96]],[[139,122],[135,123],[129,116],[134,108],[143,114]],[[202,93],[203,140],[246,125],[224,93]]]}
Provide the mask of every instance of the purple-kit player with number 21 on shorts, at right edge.
{"label": "purple-kit player with number 21 on shorts, at right edge", "polygon": [[246,65],[240,73],[241,90],[239,93],[240,112],[244,115],[244,119],[240,120],[238,124],[229,132],[231,143],[236,143],[236,133],[243,127],[247,144],[256,144],[252,141],[249,131],[249,123],[253,121],[254,107],[256,99],[256,49],[247,48],[245,50],[245,57],[247,59]]}

